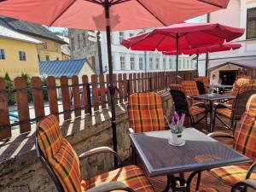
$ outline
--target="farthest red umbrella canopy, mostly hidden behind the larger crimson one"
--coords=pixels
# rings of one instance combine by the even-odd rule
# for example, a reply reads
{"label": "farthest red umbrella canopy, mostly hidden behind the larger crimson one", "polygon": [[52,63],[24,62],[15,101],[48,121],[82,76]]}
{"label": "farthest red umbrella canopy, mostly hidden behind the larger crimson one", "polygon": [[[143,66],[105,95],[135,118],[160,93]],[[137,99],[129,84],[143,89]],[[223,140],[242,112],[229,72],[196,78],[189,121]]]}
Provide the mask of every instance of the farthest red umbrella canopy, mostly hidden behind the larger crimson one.
{"label": "farthest red umbrella canopy, mostly hidden behind the larger crimson one", "polygon": [[[213,53],[213,52],[234,50],[234,49],[240,49],[240,48],[241,48],[241,44],[233,44],[233,43],[214,44],[207,47],[179,50],[178,55],[205,54],[205,53]],[[176,55],[176,54],[177,54],[176,51],[163,52],[163,55]]]}

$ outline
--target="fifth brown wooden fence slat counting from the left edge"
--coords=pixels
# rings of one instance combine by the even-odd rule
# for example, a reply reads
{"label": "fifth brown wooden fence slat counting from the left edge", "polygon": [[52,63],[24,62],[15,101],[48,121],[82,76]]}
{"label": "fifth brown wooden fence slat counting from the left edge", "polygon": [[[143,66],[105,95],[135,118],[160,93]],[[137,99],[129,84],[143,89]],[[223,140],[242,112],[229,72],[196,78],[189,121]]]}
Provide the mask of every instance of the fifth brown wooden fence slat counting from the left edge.
{"label": "fifth brown wooden fence slat counting from the left edge", "polygon": [[71,119],[71,101],[67,76],[61,76],[61,98],[64,111],[64,120]]}

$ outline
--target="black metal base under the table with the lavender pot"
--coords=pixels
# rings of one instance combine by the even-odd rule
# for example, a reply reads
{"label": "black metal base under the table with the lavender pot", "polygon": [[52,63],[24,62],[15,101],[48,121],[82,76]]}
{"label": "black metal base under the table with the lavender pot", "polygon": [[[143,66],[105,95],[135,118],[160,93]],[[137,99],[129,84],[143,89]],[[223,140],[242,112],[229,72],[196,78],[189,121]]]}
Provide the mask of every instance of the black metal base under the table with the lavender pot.
{"label": "black metal base under the table with the lavender pot", "polygon": [[179,177],[174,175],[167,175],[166,189],[163,192],[168,192],[172,189],[172,192],[190,192],[190,186],[193,178],[197,175],[195,191],[199,190],[201,182],[201,172],[192,172],[189,178],[186,180],[184,174],[179,174]]}

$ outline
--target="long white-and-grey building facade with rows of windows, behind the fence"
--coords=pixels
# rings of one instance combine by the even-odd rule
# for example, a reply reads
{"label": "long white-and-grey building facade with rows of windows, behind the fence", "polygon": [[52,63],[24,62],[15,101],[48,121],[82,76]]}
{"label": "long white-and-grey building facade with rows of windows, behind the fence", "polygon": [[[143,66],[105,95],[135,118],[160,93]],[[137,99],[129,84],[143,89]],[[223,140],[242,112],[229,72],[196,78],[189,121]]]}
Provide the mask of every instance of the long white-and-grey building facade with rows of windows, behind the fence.
{"label": "long white-and-grey building facade with rows of windows, behind the fence", "polygon": [[[113,73],[175,71],[175,56],[162,55],[161,52],[158,51],[134,51],[131,49],[126,49],[122,44],[120,44],[124,38],[130,38],[136,35],[138,32],[143,32],[143,30],[111,33]],[[70,47],[75,49],[72,50],[72,58],[79,59],[86,56],[90,62],[94,61],[91,60],[90,57],[95,58],[96,73],[99,73],[99,55],[96,48],[96,43],[93,43],[91,47],[83,47],[79,45],[79,41],[76,40],[79,34],[82,36],[84,31],[75,30],[73,32],[69,32],[70,39],[72,39]],[[106,32],[101,32],[101,37],[102,68],[103,72],[108,73],[108,49]],[[180,55],[178,70],[184,71],[193,69],[195,69],[195,64],[192,58],[189,55]]]}

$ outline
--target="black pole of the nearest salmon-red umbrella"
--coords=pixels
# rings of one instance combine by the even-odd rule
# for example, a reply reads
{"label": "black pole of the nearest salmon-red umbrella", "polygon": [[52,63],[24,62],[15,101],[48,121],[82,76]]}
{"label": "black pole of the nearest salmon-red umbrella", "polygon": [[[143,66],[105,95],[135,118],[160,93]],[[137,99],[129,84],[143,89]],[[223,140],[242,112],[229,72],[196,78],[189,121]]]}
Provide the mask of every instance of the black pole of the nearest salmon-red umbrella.
{"label": "black pole of the nearest salmon-red umbrella", "polygon": [[[110,92],[111,98],[111,125],[112,125],[112,135],[113,135],[113,150],[117,152],[117,136],[116,136],[116,117],[115,117],[115,102],[114,102],[114,93],[116,90],[115,85],[113,84],[113,66],[112,66],[112,50],[111,50],[111,38],[110,38],[110,20],[109,20],[109,8],[111,3],[104,3],[105,8],[105,18],[107,22],[106,34],[107,34],[107,47],[108,47],[108,69],[109,69],[109,84],[108,89]],[[117,158],[114,157],[114,167],[118,167]]]}

